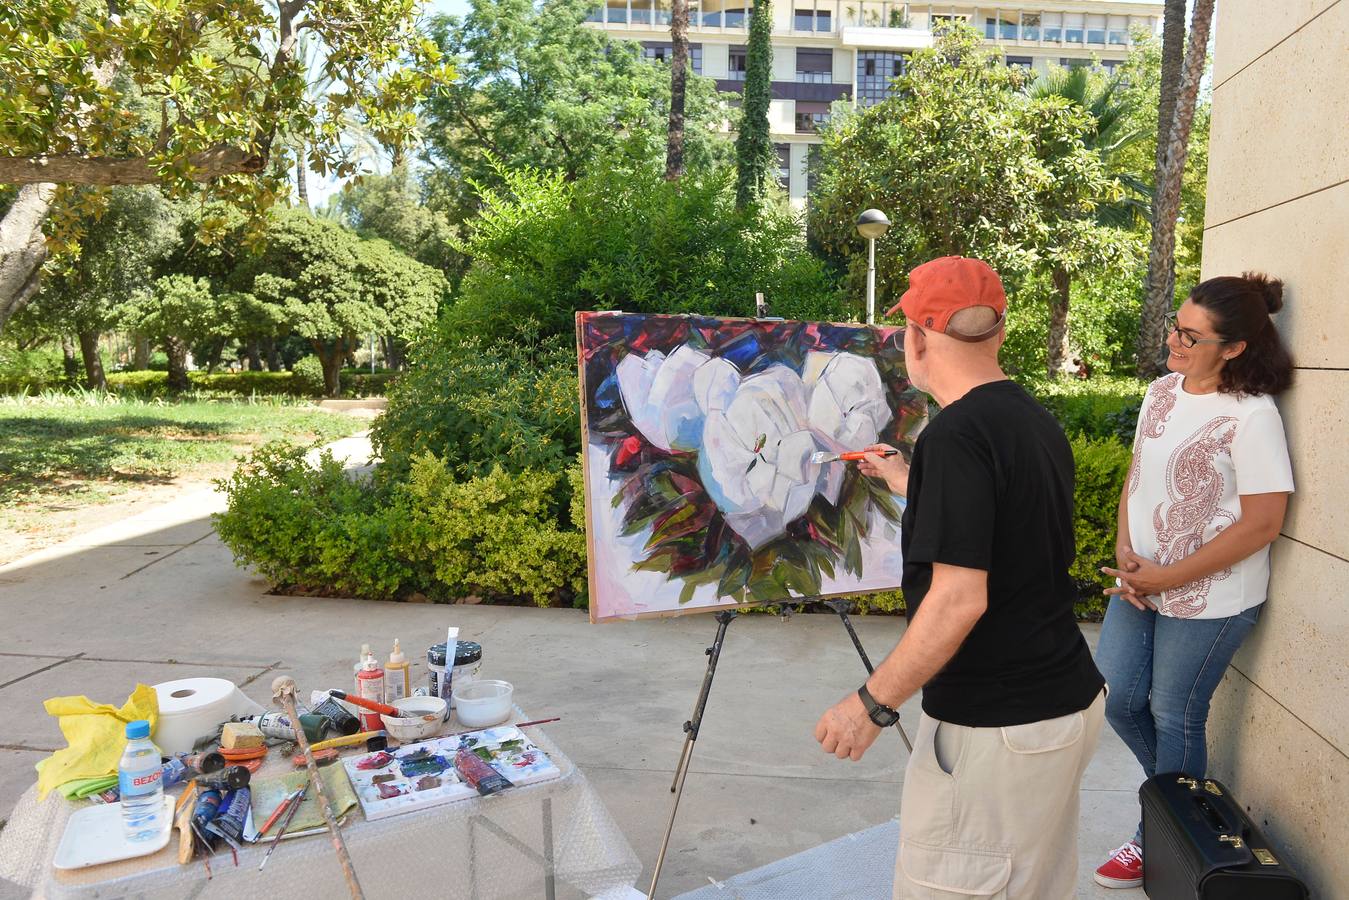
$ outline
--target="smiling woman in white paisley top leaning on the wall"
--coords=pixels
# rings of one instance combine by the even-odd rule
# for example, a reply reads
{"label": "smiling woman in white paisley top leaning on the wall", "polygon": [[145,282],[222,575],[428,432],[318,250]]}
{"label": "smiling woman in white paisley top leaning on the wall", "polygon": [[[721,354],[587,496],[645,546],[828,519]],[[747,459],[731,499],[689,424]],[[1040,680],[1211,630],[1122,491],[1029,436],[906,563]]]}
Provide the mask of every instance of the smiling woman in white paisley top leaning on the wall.
{"label": "smiling woman in white paisley top leaning on the wall", "polygon": [[[1283,285],[1210,278],[1168,322],[1167,367],[1143,401],[1120,497],[1117,579],[1097,665],[1106,719],[1148,777],[1207,766],[1209,702],[1260,617],[1292,467],[1273,398],[1292,383],[1272,313]],[[1143,884],[1141,826],[1095,873]]]}

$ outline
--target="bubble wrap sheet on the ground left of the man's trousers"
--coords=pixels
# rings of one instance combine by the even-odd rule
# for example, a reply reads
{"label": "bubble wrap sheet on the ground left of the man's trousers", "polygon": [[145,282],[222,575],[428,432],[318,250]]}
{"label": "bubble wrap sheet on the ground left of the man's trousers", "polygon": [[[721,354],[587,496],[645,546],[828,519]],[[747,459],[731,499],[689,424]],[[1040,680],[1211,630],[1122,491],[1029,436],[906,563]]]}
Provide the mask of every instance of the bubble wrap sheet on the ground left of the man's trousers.
{"label": "bubble wrap sheet on the ground left of the man's trousers", "polygon": [[676,900],[888,900],[898,819],[718,881]]}

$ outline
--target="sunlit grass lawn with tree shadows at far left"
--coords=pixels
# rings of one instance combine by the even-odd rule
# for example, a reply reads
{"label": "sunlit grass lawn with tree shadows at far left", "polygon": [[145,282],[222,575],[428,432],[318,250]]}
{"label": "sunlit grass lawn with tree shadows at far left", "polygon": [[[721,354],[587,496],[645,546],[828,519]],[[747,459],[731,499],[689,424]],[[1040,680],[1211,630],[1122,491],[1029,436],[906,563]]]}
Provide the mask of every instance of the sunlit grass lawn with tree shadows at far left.
{"label": "sunlit grass lawn with tree shadows at far left", "polygon": [[279,398],[0,397],[0,532],[43,530],[140,486],[224,475],[263,441],[331,441],[366,426]]}

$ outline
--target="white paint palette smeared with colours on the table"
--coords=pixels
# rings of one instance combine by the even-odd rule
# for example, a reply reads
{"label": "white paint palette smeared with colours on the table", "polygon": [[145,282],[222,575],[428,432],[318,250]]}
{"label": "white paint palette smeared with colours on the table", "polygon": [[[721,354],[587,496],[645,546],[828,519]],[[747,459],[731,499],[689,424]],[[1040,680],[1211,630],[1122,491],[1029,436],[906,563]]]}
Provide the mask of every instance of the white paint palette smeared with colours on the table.
{"label": "white paint palette smeared with colours on the table", "polygon": [[409,743],[343,760],[367,819],[479,796],[455,772],[455,754],[465,748],[506,777],[513,787],[561,775],[553,761],[513,725]]}

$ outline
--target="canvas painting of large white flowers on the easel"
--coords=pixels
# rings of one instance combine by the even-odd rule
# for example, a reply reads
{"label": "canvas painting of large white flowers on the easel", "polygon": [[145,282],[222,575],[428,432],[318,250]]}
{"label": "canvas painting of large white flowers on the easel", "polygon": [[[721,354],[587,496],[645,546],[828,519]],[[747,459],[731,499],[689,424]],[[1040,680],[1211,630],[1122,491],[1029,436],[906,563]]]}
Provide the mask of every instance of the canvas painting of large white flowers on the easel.
{"label": "canvas painting of large white flowers on the easel", "polygon": [[902,501],[817,453],[908,452],[897,328],[577,313],[591,619],[896,588]]}

